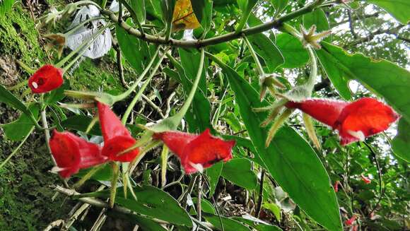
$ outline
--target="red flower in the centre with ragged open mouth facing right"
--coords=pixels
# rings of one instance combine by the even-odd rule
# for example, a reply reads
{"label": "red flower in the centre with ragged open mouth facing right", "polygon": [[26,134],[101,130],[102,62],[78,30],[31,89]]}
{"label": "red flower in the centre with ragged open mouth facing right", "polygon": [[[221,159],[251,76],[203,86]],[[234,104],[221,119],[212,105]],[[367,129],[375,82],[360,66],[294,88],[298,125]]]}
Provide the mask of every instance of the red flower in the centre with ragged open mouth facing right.
{"label": "red flower in the centre with ragged open mouth facing right", "polygon": [[162,140],[181,160],[187,174],[202,171],[214,163],[232,159],[232,148],[235,141],[223,141],[211,136],[209,129],[202,134],[194,135],[180,131],[165,131],[154,134],[153,138]]}

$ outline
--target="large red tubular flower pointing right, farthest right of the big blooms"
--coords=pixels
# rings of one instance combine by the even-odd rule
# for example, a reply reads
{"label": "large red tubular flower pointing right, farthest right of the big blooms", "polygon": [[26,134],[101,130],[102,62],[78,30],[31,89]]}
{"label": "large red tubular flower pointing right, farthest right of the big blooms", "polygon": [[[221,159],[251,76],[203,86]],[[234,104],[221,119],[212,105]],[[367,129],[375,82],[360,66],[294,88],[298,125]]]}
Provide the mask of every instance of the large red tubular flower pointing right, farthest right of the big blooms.
{"label": "large red tubular flower pointing right, farthest right of the big blooms", "polygon": [[399,118],[393,109],[373,98],[355,102],[311,99],[288,102],[288,108],[298,108],[318,121],[339,131],[341,145],[364,140],[389,128]]}

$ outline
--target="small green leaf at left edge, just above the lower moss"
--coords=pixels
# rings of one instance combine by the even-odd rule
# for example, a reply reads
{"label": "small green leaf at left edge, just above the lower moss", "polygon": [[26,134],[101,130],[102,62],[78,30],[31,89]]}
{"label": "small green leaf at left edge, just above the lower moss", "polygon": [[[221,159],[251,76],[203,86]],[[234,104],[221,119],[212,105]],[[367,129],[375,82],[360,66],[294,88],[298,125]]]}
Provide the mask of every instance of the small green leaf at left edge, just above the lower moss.
{"label": "small green leaf at left edge, just above the lower moss", "polygon": [[[33,113],[34,117],[37,118],[39,114],[39,105],[32,104],[28,107],[30,112]],[[16,120],[8,124],[1,124],[4,129],[4,134],[11,141],[21,141],[25,136],[27,136],[31,131],[33,131],[33,122],[26,114],[21,114],[21,116]]]}

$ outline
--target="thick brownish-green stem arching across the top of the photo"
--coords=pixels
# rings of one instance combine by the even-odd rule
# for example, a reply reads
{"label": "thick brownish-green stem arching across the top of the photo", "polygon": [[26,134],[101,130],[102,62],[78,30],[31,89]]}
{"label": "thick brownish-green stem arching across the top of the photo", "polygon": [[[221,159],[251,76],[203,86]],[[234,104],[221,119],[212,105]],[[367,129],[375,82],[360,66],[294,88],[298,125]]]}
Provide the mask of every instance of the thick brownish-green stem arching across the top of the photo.
{"label": "thick brownish-green stem arching across the top of the photo", "polygon": [[[216,45],[218,43],[222,42],[228,42],[231,40],[238,39],[242,37],[243,35],[254,35],[260,32],[264,32],[266,30],[271,30],[271,29],[280,29],[283,23],[287,22],[288,20],[292,20],[294,18],[298,18],[299,16],[302,16],[305,13],[310,13],[311,11],[315,10],[320,4],[322,4],[323,0],[315,1],[312,4],[309,4],[307,6],[304,6],[303,8],[300,8],[296,11],[293,11],[291,13],[286,14],[285,16],[282,16],[280,18],[276,18],[274,20],[271,20],[268,23],[264,23],[261,25],[254,26],[252,28],[247,28],[240,30],[240,32],[229,32],[224,35],[218,35],[216,37],[211,37],[206,40],[175,40],[175,39],[168,39],[168,37],[160,37],[156,35],[148,35],[144,34],[142,35],[139,30],[136,30],[132,28],[130,25],[128,25],[125,22],[119,23],[119,25],[124,28],[130,35],[133,35],[135,37],[140,38],[141,40],[145,40],[146,42],[152,42],[156,44],[162,44],[162,45],[172,45],[174,47],[206,47],[209,45]],[[115,15],[114,12],[112,11],[101,11],[102,14],[108,16],[113,22],[118,23],[118,17]]]}

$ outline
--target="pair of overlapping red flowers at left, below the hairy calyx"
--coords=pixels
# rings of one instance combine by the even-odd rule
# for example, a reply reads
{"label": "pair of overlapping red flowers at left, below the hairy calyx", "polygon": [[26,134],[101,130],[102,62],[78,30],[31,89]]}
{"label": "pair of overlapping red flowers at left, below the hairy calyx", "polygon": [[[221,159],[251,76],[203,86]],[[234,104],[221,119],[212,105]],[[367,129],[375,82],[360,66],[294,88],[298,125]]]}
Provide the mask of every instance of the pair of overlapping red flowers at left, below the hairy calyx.
{"label": "pair of overlapping red flowers at left, below the hairy calyx", "polygon": [[107,161],[130,162],[139,154],[139,148],[132,148],[136,140],[110,107],[101,102],[97,106],[104,146],[85,141],[68,131],[54,131],[50,138],[49,146],[58,166],[56,171],[61,177],[70,177],[80,169]]}

